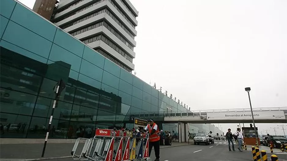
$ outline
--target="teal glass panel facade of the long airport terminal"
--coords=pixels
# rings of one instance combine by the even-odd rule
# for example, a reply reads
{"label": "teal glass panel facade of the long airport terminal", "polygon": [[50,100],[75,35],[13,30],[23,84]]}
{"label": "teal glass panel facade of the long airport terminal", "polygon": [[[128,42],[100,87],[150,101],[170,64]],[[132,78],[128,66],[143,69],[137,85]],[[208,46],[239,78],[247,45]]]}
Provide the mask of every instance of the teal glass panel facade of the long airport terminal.
{"label": "teal glass panel facade of the long airport terminal", "polygon": [[0,11],[2,138],[45,138],[60,79],[66,88],[50,138],[91,137],[95,127],[132,127],[131,116],[187,111],[21,4],[2,1]]}

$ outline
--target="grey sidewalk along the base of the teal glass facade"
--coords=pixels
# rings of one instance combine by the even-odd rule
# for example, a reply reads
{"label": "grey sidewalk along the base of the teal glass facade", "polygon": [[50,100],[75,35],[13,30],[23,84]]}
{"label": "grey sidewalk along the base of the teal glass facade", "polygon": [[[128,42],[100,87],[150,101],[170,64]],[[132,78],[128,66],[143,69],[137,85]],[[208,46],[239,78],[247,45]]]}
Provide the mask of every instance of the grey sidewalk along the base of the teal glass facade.
{"label": "grey sidewalk along the base of the teal glass facade", "polygon": [[[190,142],[191,144],[191,142]],[[68,158],[71,157],[73,143],[48,143],[45,151],[45,159]],[[172,145],[163,145],[160,148],[170,148],[188,145],[188,143],[173,142]],[[79,144],[80,146],[80,144]],[[80,147],[79,147],[80,148]],[[24,160],[43,160],[41,158],[43,144],[1,144],[1,161],[24,161]]]}

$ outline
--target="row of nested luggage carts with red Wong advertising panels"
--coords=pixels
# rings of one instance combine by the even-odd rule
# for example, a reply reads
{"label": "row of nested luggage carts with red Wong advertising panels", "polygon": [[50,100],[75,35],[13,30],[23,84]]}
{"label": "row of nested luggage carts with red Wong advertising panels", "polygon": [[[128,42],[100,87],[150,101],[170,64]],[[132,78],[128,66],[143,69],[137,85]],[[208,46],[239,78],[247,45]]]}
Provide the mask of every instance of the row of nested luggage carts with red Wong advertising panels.
{"label": "row of nested luggage carts with red Wong advertising panels", "polygon": [[[139,140],[136,144],[137,139]],[[85,144],[79,155],[76,150],[81,140]],[[94,138],[77,138],[71,155],[74,160],[86,161],[140,161],[149,159],[149,134],[140,138],[127,131],[96,129]]]}

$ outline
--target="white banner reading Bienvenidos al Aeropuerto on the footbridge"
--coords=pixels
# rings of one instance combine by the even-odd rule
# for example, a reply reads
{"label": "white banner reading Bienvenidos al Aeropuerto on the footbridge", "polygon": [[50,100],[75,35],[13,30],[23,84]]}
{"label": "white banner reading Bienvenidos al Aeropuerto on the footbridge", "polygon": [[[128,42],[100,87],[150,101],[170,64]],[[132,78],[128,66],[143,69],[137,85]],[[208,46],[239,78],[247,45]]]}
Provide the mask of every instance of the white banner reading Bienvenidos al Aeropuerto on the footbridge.
{"label": "white banner reading Bienvenidos al Aeropuerto on the footbridge", "polygon": [[[253,111],[255,120],[282,120],[284,111]],[[207,120],[252,120],[251,111],[208,112]]]}

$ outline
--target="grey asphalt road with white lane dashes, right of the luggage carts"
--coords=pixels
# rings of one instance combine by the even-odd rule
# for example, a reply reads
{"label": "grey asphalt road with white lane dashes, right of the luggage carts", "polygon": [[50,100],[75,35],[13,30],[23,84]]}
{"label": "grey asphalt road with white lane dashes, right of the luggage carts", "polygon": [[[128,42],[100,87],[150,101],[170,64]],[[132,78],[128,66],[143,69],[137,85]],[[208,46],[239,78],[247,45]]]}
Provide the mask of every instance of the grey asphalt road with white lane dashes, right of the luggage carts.
{"label": "grey asphalt road with white lane dashes, right of the luggage carts", "polygon": [[[237,148],[237,145],[235,145]],[[279,161],[286,161],[286,154],[276,154]],[[252,161],[251,151],[235,152],[228,151],[228,144],[218,142],[213,145],[186,145],[160,149],[161,161]],[[270,157],[270,154],[268,154]],[[151,153],[151,160],[154,160],[154,152]],[[51,161],[71,161],[68,159],[54,159]],[[271,159],[268,159],[271,160]]]}

